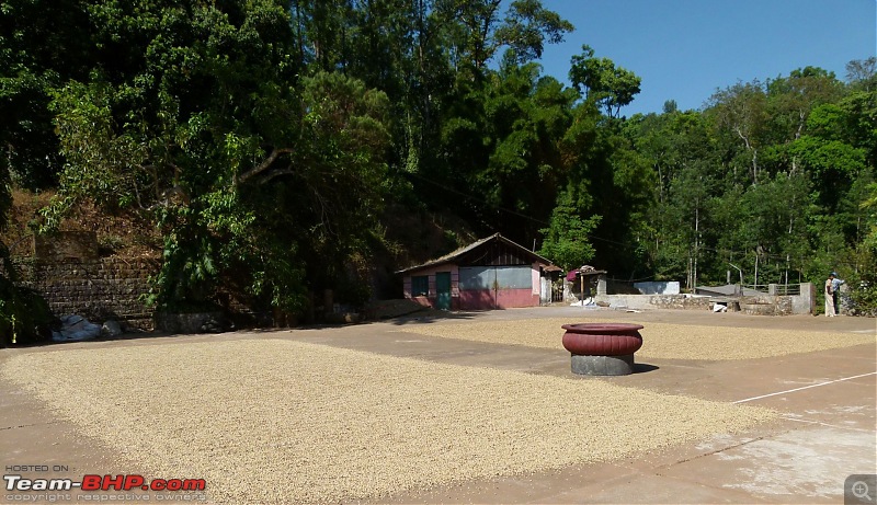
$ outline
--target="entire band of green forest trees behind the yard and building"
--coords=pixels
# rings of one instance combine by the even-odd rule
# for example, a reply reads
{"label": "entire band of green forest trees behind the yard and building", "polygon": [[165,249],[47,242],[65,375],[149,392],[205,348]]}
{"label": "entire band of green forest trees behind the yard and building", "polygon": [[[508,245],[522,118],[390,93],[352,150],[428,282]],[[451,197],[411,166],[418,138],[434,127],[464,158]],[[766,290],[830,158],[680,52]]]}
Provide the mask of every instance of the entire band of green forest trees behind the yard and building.
{"label": "entire band of green forest trees behind the yard and building", "polygon": [[690,289],[834,269],[877,307],[874,57],[625,117],[612,47],[543,74],[573,30],[539,0],[0,1],[0,232],[13,187],[56,192],[38,232],[133,213],[164,307],[362,301],[418,256],[399,215]]}

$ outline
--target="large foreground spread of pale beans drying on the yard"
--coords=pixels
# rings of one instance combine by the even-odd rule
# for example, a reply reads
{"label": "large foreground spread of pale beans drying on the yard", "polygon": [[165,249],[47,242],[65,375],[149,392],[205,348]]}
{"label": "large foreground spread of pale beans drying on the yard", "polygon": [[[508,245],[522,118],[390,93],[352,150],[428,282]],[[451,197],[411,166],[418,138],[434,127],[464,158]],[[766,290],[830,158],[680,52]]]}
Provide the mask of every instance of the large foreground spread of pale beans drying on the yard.
{"label": "large foreground spread of pale beans drying on the yard", "polygon": [[774,415],[278,340],[34,352],[2,377],[148,477],[206,479],[219,503],[374,498],[629,457]]}

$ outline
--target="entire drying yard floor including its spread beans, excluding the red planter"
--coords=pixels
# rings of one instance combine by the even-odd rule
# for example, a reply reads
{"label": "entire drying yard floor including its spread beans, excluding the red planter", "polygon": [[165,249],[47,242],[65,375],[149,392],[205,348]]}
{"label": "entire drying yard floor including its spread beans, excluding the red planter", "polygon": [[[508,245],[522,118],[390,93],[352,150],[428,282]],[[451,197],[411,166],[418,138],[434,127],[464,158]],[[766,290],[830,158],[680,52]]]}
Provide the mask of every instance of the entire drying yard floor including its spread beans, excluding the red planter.
{"label": "entire drying yard floor including its spread beans, excluding the red planter", "polygon": [[[636,374],[569,371],[560,324],[599,321],[646,326]],[[4,474],[206,481],[176,501],[838,503],[877,472],[874,319],[414,314],[0,349],[0,377]]]}

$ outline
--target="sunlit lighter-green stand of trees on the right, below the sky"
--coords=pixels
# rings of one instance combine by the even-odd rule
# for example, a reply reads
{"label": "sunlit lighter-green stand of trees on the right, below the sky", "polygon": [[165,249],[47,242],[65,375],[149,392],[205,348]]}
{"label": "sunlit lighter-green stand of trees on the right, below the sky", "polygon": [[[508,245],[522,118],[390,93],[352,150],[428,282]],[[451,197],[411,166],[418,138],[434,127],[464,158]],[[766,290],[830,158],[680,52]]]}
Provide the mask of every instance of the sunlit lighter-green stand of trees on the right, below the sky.
{"label": "sunlit lighter-green stand of trees on the right, below the sky", "polygon": [[[660,182],[647,228],[654,275],[724,283],[733,264],[749,284],[756,269],[759,284],[821,283],[832,269],[868,277],[874,217],[861,204],[874,162],[862,139],[874,120],[867,101],[851,101],[861,85],[808,67],[721,90],[686,113],[693,122],[672,108],[635,118],[630,133]],[[862,306],[866,285],[850,283]]]}

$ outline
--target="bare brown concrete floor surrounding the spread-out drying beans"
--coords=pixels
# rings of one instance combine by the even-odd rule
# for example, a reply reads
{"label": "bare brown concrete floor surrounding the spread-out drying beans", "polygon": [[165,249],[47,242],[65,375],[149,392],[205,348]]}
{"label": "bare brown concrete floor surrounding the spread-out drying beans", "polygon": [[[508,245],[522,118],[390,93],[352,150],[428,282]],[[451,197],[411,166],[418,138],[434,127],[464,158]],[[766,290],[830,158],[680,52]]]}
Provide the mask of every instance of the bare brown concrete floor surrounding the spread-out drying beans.
{"label": "bare brown concrete floor surrounding the spread-out drying beans", "polygon": [[[856,332],[875,343],[825,352],[744,361],[650,359],[629,376],[577,378],[570,357],[558,349],[491,345],[401,333],[403,324],[465,324],[474,320],[570,315],[605,320],[741,328],[784,328]],[[812,315],[755,317],[699,311],[585,311],[581,308],[512,309],[407,317],[343,328],[281,332],[240,332],[213,336],[173,336],[0,349],[0,366],[20,353],[65,348],[149,346],[168,338],[191,342],[289,338],[379,354],[474,367],[611,380],[618,385],[722,402],[764,405],[781,418],[736,436],[671,447],[636,459],[565,468],[521,477],[384,497],[375,503],[842,503],[844,480],[877,473],[877,320]],[[148,417],[148,413],[146,413]],[[151,420],[161,422],[161,420]],[[660,423],[660,420],[656,420]],[[31,478],[76,478],[86,473],[143,473],[136,455],[111,451],[55,417],[24,391],[0,383],[0,463],[57,466]],[[291,469],[294,471],[294,469]],[[4,474],[9,474],[5,471]],[[282,478],[282,475],[278,475]],[[4,492],[5,493],[5,492]],[[76,501],[76,494],[71,498]],[[0,495],[0,502],[9,500]],[[64,503],[64,502],[60,502]]]}

